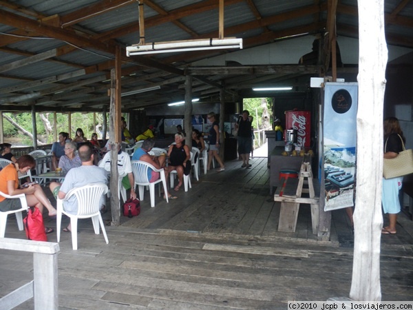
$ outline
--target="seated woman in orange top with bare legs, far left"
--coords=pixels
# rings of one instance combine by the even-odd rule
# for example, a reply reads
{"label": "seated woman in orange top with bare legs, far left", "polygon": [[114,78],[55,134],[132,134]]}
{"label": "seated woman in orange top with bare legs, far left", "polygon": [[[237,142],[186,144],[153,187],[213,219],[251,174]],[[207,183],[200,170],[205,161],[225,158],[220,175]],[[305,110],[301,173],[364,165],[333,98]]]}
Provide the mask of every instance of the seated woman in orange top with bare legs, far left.
{"label": "seated woman in orange top with bare legs, far left", "polygon": [[[30,185],[26,188],[19,188],[19,176],[17,172],[25,174],[36,165],[36,161],[30,155],[23,155],[17,159],[16,163],[4,167],[0,171],[0,191],[10,196],[25,194],[29,207],[37,207],[43,213],[43,206],[49,211],[49,216],[56,216],[56,209],[47,199],[45,192],[39,184]],[[21,208],[19,199],[7,199],[0,196],[0,210],[9,211]],[[45,227],[46,234],[54,230]]]}

